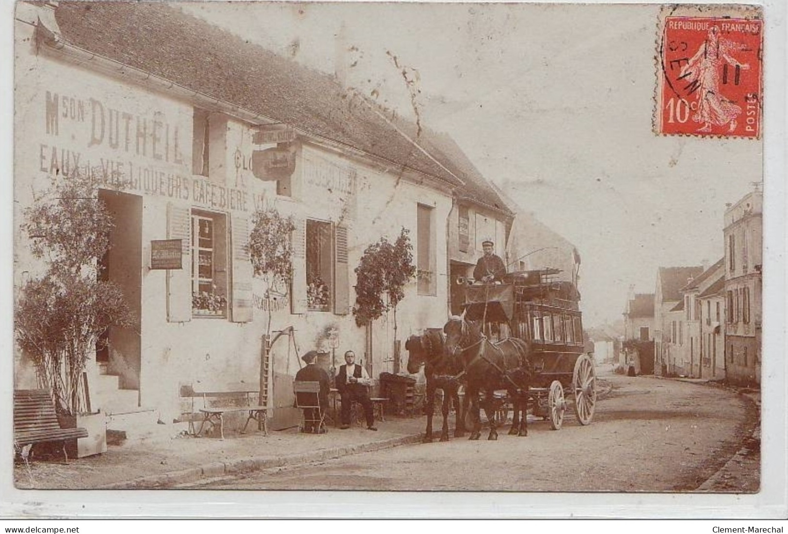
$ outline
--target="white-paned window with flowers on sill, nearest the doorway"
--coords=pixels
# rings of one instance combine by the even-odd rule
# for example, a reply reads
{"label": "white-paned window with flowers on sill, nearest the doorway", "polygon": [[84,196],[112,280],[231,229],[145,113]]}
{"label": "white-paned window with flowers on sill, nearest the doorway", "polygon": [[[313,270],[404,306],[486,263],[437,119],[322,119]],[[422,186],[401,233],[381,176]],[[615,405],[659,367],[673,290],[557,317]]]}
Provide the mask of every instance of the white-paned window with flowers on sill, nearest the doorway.
{"label": "white-paned window with flowers on sill, nearest the doorway", "polygon": [[191,211],[191,313],[227,317],[227,220]]}

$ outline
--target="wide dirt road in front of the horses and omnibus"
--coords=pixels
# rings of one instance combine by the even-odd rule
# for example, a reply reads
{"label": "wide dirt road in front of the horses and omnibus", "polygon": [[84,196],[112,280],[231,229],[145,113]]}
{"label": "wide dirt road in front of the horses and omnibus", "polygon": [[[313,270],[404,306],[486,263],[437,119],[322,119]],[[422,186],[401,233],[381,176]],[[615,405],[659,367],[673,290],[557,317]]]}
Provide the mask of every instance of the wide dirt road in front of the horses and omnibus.
{"label": "wide dirt road in front of the horses and omnibus", "polygon": [[[757,423],[756,406],[709,384],[602,373],[611,392],[593,423],[567,413],[563,428],[533,421],[528,437],[452,439],[292,469],[206,480],[232,489],[443,491],[694,491],[740,451]],[[747,482],[721,491],[757,491]],[[707,484],[708,485],[708,484]]]}

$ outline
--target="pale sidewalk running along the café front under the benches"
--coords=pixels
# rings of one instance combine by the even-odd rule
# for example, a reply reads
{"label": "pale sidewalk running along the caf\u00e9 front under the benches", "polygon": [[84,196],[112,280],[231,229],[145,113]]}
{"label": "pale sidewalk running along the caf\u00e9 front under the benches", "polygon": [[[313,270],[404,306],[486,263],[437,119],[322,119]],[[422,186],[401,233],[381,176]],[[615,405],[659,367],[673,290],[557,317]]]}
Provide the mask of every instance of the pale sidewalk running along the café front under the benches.
{"label": "pale sidewalk running along the caf\u00e9 front under the benches", "polygon": [[[302,434],[297,428],[217,438],[175,436],[162,425],[158,435],[108,447],[106,453],[69,460],[14,465],[18,489],[167,488],[203,477],[221,477],[254,469],[319,462],[346,454],[377,451],[422,439],[426,417],[390,417],[377,423],[378,432],[362,426],[327,434]],[[434,425],[434,423],[433,423]],[[169,432],[168,432],[169,430]]]}

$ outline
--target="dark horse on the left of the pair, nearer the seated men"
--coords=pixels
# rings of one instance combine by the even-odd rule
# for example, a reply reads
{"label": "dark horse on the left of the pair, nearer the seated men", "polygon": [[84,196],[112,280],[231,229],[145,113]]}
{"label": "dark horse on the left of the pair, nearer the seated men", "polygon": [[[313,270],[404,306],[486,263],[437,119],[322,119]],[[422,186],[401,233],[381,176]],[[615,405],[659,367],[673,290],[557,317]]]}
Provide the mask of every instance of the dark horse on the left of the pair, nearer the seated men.
{"label": "dark horse on the left of the pair, nearer the seated men", "polygon": [[407,372],[418,373],[424,365],[424,376],[427,379],[427,395],[425,410],[427,412],[427,429],[424,434],[424,443],[433,440],[433,411],[435,407],[435,391],[443,391],[444,416],[443,428],[440,431],[440,441],[448,441],[448,408],[449,402],[454,400],[455,427],[454,436],[465,435],[464,412],[460,408],[458,388],[460,386],[459,374],[463,368],[456,358],[451,358],[444,352],[444,339],[440,331],[427,330],[424,336],[411,336],[405,342],[408,352]]}

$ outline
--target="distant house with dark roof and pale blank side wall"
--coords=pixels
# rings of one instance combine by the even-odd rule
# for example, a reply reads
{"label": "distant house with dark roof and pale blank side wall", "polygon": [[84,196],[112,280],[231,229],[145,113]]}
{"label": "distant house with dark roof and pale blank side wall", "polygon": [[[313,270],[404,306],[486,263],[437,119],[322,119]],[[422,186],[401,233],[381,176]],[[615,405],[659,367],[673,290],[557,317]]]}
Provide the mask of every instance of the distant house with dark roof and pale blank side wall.
{"label": "distant house with dark roof and pale blank side wall", "polygon": [[684,300],[681,289],[703,273],[701,265],[660,267],[654,291],[654,372],[684,374]]}

